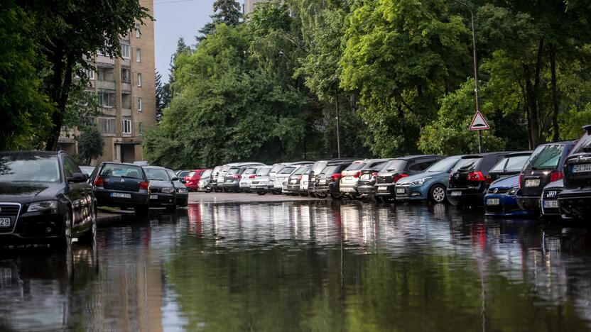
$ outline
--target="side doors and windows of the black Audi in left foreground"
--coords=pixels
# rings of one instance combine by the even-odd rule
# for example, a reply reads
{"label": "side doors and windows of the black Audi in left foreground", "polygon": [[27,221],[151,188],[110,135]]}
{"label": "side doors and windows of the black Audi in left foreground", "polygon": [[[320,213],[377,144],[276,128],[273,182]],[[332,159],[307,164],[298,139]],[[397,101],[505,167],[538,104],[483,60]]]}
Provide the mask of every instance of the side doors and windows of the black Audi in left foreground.
{"label": "side doors and windows of the black Audi in left foreground", "polygon": [[[62,156],[62,162],[65,172],[66,181],[73,177],[75,173],[82,173],[80,167],[68,155]],[[85,228],[90,226],[90,218],[92,218],[92,194],[90,186],[87,182],[68,182],[65,186],[67,191],[65,194],[72,203],[73,214],[73,233],[80,233],[85,231]]]}

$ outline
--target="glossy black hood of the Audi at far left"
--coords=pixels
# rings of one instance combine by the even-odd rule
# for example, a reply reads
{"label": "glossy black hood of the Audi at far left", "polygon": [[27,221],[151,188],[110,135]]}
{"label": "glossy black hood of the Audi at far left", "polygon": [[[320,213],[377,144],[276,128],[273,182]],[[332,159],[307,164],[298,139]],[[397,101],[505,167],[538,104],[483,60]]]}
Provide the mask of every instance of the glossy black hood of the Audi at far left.
{"label": "glossy black hood of the Audi at far left", "polygon": [[0,182],[0,201],[28,203],[45,199],[56,199],[63,190],[63,184],[52,182]]}

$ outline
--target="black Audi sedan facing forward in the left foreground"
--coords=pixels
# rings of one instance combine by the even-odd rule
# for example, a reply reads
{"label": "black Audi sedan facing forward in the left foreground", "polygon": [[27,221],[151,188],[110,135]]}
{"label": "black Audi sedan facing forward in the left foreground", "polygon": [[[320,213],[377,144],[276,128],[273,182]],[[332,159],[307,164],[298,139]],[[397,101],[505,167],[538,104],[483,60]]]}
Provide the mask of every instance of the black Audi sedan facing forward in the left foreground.
{"label": "black Audi sedan facing forward in the left foreground", "polygon": [[76,162],[67,153],[0,153],[0,241],[70,245],[93,239],[97,201]]}

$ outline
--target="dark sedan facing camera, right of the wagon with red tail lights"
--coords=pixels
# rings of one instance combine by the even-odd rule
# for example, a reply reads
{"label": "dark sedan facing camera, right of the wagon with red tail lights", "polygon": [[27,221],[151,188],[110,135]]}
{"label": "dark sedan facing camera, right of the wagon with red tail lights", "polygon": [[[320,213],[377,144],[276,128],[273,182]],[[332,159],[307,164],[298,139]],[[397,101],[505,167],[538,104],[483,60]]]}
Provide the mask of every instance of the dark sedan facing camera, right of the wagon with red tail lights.
{"label": "dark sedan facing camera, right of the wagon with red tail lights", "polygon": [[166,168],[144,166],[143,170],[150,182],[150,207],[163,207],[167,211],[175,211],[176,188],[173,177],[170,177]]}

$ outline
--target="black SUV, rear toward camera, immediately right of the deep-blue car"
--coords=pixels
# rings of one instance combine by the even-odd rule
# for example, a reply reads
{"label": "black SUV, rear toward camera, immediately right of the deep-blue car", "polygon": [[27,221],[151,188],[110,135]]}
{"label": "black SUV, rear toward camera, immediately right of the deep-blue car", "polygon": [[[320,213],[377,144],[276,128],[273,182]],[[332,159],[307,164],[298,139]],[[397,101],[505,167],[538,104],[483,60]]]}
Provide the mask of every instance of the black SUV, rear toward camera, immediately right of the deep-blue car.
{"label": "black SUV, rear toward camera, immediately right of the deep-blue car", "polygon": [[517,204],[523,210],[540,212],[542,189],[563,178],[563,164],[573,148],[573,141],[538,145],[519,173]]}

